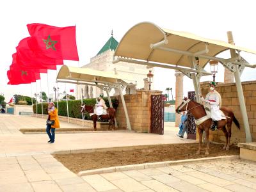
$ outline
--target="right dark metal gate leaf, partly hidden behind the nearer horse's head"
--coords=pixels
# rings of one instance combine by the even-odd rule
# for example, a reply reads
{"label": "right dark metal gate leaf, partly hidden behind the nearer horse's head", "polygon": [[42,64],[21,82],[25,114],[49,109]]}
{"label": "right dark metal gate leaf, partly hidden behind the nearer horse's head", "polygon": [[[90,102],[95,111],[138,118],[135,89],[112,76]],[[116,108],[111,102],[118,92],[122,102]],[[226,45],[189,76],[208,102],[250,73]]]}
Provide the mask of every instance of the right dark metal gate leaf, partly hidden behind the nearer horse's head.
{"label": "right dark metal gate leaf, partly hidden behind the nearer horse's head", "polygon": [[[188,99],[196,100],[195,95],[196,95],[195,92],[188,92]],[[189,112],[188,112],[188,138],[191,140],[196,139],[195,119]]]}

